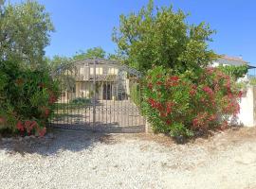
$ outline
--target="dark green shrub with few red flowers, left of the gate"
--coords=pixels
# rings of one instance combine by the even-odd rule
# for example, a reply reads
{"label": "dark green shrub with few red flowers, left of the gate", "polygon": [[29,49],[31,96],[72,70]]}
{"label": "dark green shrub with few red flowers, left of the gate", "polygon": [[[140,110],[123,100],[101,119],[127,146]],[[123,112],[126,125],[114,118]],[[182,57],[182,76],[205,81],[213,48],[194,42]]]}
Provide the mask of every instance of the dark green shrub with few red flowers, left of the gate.
{"label": "dark green shrub with few red flowers, left of the gate", "polygon": [[60,94],[58,83],[46,69],[24,69],[12,62],[1,62],[0,75],[0,128],[44,136]]}

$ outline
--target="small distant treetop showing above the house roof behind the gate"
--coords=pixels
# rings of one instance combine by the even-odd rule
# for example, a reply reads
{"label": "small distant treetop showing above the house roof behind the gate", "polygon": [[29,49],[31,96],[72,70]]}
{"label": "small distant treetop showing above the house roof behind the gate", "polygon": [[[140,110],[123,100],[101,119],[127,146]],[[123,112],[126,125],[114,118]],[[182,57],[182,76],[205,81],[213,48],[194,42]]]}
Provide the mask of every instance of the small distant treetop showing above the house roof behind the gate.
{"label": "small distant treetop showing above the house roof behind the gate", "polygon": [[83,59],[93,59],[93,58],[106,58],[106,52],[99,46],[94,48],[89,48],[86,51],[78,52],[73,60],[83,60]]}

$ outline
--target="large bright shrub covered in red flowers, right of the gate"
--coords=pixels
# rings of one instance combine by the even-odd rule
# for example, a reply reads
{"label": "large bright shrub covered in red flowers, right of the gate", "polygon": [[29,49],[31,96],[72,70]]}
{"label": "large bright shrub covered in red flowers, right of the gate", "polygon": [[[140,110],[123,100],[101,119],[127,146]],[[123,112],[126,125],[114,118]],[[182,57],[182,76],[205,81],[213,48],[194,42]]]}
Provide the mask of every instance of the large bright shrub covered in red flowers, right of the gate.
{"label": "large bright shrub covered in red flowers, right of the gate", "polygon": [[161,66],[150,70],[144,81],[143,112],[155,131],[172,136],[192,136],[227,126],[239,112],[242,95],[234,81],[217,68],[174,76]]}

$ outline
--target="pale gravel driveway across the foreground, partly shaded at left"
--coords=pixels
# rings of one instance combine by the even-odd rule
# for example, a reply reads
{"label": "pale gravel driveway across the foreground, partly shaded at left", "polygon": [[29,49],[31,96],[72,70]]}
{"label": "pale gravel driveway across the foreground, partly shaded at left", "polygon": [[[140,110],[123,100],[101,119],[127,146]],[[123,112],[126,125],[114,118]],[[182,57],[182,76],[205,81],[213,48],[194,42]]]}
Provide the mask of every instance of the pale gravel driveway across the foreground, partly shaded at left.
{"label": "pale gravel driveway across the foreground, partly shaded at left", "polygon": [[0,142],[5,188],[256,188],[256,129],[176,145],[151,134],[54,130]]}

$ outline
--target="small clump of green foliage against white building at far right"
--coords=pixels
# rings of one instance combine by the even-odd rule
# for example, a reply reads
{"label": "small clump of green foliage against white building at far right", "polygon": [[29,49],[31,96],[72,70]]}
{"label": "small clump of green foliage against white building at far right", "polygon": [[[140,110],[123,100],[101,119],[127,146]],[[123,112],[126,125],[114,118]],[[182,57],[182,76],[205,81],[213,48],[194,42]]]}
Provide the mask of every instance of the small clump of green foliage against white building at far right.
{"label": "small clump of green foliage against white building at far right", "polygon": [[220,65],[218,67],[223,73],[233,77],[235,80],[241,77],[245,77],[248,72],[247,65],[234,66],[234,65]]}

